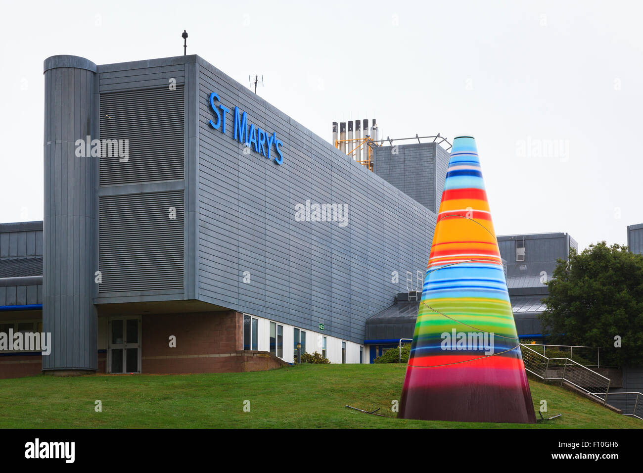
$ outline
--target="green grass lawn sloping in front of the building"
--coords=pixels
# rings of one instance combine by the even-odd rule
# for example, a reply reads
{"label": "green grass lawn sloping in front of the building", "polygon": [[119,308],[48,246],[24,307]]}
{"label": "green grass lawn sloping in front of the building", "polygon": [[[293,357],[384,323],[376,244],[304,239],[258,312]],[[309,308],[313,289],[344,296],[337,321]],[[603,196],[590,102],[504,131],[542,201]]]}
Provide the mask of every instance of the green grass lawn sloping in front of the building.
{"label": "green grass lawn sloping in front of the building", "polygon": [[[300,365],[256,373],[31,376],[0,380],[0,427],[643,428],[554,385],[530,381],[534,406],[563,417],[536,425],[395,418],[406,365]],[[95,400],[102,412],[95,412]],[[244,400],[250,411],[244,412]],[[372,416],[344,407],[374,410]]]}

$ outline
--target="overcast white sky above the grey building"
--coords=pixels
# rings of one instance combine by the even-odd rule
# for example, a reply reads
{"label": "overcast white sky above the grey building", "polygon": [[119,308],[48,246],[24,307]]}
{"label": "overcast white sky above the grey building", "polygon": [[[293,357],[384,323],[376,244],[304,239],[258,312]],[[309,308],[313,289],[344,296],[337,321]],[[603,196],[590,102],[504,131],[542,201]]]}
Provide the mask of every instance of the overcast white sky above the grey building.
{"label": "overcast white sky above the grey building", "polygon": [[[152,7],[153,5],[153,7]],[[0,222],[42,219],[42,61],[198,54],[331,140],[475,136],[499,235],[643,223],[643,6],[566,1],[2,1]],[[545,153],[540,146],[551,145]],[[544,154],[544,156],[543,156]]]}

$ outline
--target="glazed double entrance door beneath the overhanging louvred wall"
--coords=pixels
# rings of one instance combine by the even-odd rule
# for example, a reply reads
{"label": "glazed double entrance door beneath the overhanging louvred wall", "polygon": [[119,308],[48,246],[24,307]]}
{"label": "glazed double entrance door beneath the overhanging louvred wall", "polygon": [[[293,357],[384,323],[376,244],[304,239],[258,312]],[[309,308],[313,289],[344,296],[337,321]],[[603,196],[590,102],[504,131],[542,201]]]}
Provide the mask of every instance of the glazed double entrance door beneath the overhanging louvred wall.
{"label": "glazed double entrance door beneath the overhanging louvred wall", "polygon": [[109,320],[109,373],[141,372],[141,319],[119,317]]}

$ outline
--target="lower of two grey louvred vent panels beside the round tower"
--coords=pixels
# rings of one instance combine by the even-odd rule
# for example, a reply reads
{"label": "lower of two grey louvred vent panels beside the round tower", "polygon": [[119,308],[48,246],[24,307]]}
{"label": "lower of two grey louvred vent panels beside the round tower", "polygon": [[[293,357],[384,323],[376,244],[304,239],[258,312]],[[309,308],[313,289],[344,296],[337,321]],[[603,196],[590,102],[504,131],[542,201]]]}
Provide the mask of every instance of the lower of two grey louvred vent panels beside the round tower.
{"label": "lower of two grey louvred vent panels beside the round tower", "polygon": [[183,289],[183,190],[101,196],[98,245],[100,293]]}

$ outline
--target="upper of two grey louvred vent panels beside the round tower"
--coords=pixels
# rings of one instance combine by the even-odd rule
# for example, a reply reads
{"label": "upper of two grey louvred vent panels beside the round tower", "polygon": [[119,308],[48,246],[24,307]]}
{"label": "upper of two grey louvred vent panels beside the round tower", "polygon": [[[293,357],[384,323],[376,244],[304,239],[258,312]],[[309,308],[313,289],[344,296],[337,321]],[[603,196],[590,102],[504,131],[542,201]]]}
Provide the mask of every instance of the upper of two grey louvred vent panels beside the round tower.
{"label": "upper of two grey louvred vent panels beside the round tower", "polygon": [[100,185],[183,179],[183,95],[183,86],[100,94],[101,140],[129,140],[127,162],[101,156]]}

